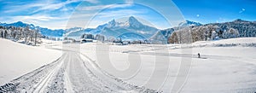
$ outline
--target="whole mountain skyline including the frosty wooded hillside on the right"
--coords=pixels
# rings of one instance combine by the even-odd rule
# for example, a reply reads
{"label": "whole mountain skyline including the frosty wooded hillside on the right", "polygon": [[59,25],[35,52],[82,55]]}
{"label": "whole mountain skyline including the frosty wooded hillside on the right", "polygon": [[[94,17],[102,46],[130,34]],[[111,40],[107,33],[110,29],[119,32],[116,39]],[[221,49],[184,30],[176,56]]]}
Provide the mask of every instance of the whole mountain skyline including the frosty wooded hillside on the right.
{"label": "whole mountain skyline including the frosty wooded hillside on the right", "polygon": [[[235,34],[235,32],[237,32],[237,34],[239,35],[237,35],[236,37],[256,37],[256,22],[247,20],[234,20],[224,23],[210,23],[206,25],[202,25],[199,22],[186,20],[181,22],[178,26],[168,28],[165,30],[160,30],[153,26],[144,25],[134,16],[129,17],[125,21],[111,20],[106,24],[97,26],[96,28],[86,29],[82,27],[73,27],[66,30],[51,30],[40,26],[34,26],[33,24],[26,24],[21,21],[10,24],[0,23],[0,26],[29,26],[31,29],[38,29],[43,35],[50,37],[62,37],[63,35],[68,37],[80,37],[84,33],[90,33],[94,35],[102,34],[107,38],[113,37],[133,40],[147,39],[152,41],[161,41],[164,44],[170,43],[169,41],[171,37],[173,37],[174,32],[179,33],[179,35],[184,35],[188,32],[208,35],[207,37],[201,36],[200,39],[197,38],[198,40],[233,38],[230,36],[228,37],[226,35],[227,32],[230,32],[232,34]],[[231,29],[233,29],[232,32],[230,31]],[[212,33],[216,33],[217,36],[215,38],[212,38],[212,36],[214,36],[212,35]],[[197,39],[193,40],[193,42],[198,41]],[[179,40],[181,39],[179,38]]]}

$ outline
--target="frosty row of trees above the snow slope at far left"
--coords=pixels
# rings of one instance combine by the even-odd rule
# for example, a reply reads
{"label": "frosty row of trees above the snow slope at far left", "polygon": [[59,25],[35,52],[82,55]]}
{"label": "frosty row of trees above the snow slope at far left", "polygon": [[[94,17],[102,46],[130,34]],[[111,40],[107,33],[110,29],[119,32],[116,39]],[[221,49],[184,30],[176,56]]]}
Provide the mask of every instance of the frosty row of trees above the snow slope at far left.
{"label": "frosty row of trees above the snow slope at far left", "polygon": [[28,26],[26,28],[23,27],[15,27],[15,26],[0,26],[1,38],[8,38],[17,40],[24,40],[24,44],[34,44],[37,45],[41,43],[42,35],[38,30],[32,30]]}

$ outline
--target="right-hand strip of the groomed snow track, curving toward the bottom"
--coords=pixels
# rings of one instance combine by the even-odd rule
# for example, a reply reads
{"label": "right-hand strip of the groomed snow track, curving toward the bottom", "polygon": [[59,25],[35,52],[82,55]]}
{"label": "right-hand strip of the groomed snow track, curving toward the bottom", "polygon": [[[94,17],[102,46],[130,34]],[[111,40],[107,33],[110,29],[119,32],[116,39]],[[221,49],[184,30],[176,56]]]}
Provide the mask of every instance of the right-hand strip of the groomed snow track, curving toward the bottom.
{"label": "right-hand strip of the groomed snow track, curving toward the bottom", "polygon": [[[143,86],[128,84],[123,80],[114,77],[112,74],[109,74],[103,71],[102,68],[96,64],[96,61],[91,60],[90,57],[88,57],[87,55],[84,55],[83,53],[79,53],[79,55],[77,56],[79,56],[79,60],[83,62],[84,68],[89,71],[89,74],[91,74],[90,77],[97,79],[96,81],[98,82],[96,83],[105,85],[107,86],[107,88],[113,90],[114,92],[139,92],[139,93],[159,92],[156,90],[146,89]],[[84,57],[85,59],[82,59],[81,57]]]}

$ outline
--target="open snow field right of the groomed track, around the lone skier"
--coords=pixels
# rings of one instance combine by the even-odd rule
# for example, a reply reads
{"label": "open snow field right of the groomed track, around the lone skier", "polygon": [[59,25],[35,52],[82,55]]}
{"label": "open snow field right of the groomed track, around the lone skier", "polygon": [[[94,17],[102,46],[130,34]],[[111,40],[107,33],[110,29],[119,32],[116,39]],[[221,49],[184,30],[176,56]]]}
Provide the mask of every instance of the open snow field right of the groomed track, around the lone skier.
{"label": "open snow field right of the groomed track, around the lone skier", "polygon": [[[222,46],[219,46],[222,44]],[[230,45],[231,44],[231,45]],[[233,45],[232,45],[233,44]],[[253,45],[251,45],[253,44]],[[125,82],[145,86],[153,90],[171,92],[177,78],[177,73],[183,59],[192,55],[189,78],[183,86],[182,93],[205,93],[205,92],[255,92],[256,88],[256,38],[230,38],[218,41],[196,42],[194,44],[143,44],[143,45],[110,45],[109,58],[113,67],[119,71],[129,68],[129,53],[138,53],[142,65],[135,77],[124,79]],[[225,46],[226,45],[226,46]],[[167,47],[167,48],[166,48]],[[82,44],[80,51],[97,62],[96,44]],[[154,54],[156,51],[168,51],[168,53]],[[198,59],[200,53],[204,59]],[[155,60],[157,57],[160,60]],[[164,62],[169,59],[169,64]],[[155,64],[159,66],[156,67]],[[169,65],[169,69],[165,68]],[[168,71],[166,81],[158,86],[162,78],[159,76],[153,82],[148,83],[152,77],[154,68],[160,68],[155,73],[164,74]],[[108,73],[119,77],[105,69]]]}

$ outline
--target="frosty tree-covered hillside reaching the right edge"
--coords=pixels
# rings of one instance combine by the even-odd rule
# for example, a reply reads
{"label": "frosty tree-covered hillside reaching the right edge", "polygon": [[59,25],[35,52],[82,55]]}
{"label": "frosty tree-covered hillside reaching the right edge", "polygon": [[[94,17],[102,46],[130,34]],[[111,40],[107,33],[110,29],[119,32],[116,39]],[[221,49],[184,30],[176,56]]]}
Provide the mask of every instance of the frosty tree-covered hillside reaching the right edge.
{"label": "frosty tree-covered hillside reaching the right edge", "polygon": [[[256,22],[234,20],[212,23],[204,26],[189,26],[173,32],[169,43],[193,43],[196,41],[218,40],[222,38],[256,37]],[[173,41],[173,39],[176,39]],[[171,42],[172,41],[172,42]]]}

